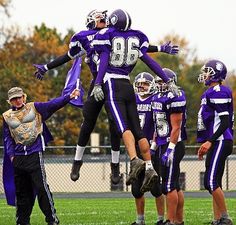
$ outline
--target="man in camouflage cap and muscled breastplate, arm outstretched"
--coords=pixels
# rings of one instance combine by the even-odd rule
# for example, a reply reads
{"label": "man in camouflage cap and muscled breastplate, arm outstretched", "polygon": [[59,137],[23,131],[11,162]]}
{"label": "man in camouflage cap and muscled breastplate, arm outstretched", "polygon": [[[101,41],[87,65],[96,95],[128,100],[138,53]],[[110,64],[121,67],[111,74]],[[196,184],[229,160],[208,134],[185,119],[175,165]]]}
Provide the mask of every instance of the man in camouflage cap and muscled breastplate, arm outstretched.
{"label": "man in camouflage cap and muscled breastplate, arm outstretched", "polygon": [[26,103],[22,88],[13,87],[8,91],[11,109],[3,113],[4,160],[8,160],[13,169],[9,170],[4,163],[3,180],[14,178],[14,187],[10,188],[14,193],[7,194],[6,183],[4,189],[8,204],[16,205],[17,225],[30,225],[35,193],[47,224],[59,224],[43,162],[45,145],[52,140],[45,121],[76,96],[79,91],[74,89],[71,94],[48,102]]}

